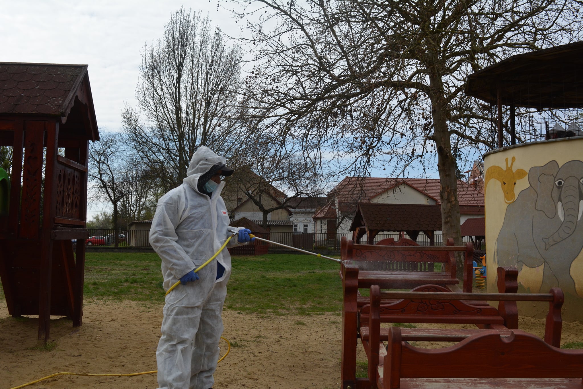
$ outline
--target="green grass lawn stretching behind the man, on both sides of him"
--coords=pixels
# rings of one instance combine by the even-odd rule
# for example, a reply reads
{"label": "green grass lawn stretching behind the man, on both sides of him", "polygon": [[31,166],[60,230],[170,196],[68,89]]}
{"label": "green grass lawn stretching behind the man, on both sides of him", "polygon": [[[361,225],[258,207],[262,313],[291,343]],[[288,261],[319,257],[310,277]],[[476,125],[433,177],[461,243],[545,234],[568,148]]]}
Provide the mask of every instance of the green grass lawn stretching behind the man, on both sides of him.
{"label": "green grass lawn stretching behind the man, on both sides of him", "polygon": [[[340,265],[311,255],[233,257],[225,307],[272,314],[340,312]],[[85,299],[163,303],[160,258],[150,253],[87,253]]]}

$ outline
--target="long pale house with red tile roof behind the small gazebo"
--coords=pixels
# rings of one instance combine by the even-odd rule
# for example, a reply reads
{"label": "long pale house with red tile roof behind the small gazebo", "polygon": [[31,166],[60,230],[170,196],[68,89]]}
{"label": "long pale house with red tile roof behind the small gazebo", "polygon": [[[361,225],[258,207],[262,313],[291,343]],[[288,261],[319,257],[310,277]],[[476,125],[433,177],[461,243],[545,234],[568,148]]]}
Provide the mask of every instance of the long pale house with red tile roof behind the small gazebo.
{"label": "long pale house with red tile roof behind the small gazebo", "polygon": [[[436,178],[346,177],[328,193],[328,201],[314,213],[317,233],[350,233],[359,203],[441,205]],[[461,223],[484,216],[484,194],[458,180]],[[436,233],[441,233],[436,232]]]}

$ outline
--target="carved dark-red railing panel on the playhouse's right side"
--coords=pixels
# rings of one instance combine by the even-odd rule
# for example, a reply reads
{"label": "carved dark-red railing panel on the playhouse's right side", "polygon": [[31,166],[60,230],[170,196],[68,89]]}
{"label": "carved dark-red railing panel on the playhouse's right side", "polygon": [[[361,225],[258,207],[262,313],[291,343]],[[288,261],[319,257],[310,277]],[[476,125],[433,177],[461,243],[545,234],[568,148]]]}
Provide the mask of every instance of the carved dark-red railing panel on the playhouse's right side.
{"label": "carved dark-red railing panel on the playhouse's right side", "polygon": [[55,223],[85,226],[86,180],[86,166],[60,155],[57,157]]}

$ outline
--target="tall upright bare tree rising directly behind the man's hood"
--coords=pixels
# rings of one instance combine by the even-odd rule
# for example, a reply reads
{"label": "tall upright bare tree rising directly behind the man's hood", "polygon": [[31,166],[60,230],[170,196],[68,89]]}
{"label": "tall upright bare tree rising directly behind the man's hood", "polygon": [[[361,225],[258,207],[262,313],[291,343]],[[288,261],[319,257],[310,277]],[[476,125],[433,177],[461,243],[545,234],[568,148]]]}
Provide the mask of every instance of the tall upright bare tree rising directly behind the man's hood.
{"label": "tall upright bare tree rising directly behind the man's hood", "polygon": [[237,146],[240,52],[227,47],[208,17],[173,13],[156,43],[145,45],[137,107],[122,121],[129,144],[164,191],[186,177],[192,153],[208,146],[228,155]]}

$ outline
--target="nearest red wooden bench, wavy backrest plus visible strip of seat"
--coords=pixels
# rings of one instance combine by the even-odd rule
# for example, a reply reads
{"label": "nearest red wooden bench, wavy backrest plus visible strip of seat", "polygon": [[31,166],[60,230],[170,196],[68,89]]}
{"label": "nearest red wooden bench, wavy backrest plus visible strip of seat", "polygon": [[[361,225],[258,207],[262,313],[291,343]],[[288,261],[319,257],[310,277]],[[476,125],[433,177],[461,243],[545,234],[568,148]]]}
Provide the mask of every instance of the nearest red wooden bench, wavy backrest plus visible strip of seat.
{"label": "nearest red wooden bench, wavy backrest plus visible strip of seat", "polygon": [[561,350],[521,330],[478,331],[454,346],[423,349],[391,328],[378,388],[583,388],[583,350]]}

